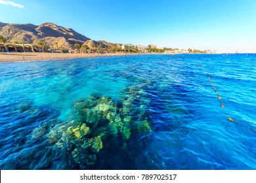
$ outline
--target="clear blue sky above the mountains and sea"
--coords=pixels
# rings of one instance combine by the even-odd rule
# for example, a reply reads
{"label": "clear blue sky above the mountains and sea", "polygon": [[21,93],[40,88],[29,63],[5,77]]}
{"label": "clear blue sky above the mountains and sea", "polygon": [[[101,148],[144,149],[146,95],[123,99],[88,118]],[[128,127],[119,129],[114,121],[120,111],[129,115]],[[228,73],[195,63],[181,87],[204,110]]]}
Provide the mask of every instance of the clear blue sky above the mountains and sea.
{"label": "clear blue sky above the mountains and sea", "polygon": [[53,22],[94,40],[256,52],[254,0],[0,0],[0,22]]}

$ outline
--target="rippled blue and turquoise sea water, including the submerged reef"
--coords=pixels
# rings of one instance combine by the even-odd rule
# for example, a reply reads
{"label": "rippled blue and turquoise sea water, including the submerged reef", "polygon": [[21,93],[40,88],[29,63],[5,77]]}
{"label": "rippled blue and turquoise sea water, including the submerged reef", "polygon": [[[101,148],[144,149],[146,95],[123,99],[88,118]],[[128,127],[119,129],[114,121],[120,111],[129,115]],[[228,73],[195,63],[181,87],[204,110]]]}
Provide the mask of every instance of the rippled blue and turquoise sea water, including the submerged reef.
{"label": "rippled blue and turquoise sea water, including the submerged reef", "polygon": [[1,63],[0,169],[256,169],[255,66],[256,54]]}

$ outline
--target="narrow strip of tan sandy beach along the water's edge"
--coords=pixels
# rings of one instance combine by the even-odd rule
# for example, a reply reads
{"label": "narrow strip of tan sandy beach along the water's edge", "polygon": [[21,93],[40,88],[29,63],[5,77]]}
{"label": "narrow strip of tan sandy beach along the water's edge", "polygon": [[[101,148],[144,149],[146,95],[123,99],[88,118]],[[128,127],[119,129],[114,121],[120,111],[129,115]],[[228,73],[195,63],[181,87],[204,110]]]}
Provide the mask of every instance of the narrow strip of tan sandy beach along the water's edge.
{"label": "narrow strip of tan sandy beach along the water's edge", "polygon": [[125,56],[125,53],[108,53],[108,54],[60,54],[60,53],[41,53],[41,52],[0,52],[1,62],[12,61],[39,61],[53,59],[70,59],[70,58],[93,58],[102,56]]}

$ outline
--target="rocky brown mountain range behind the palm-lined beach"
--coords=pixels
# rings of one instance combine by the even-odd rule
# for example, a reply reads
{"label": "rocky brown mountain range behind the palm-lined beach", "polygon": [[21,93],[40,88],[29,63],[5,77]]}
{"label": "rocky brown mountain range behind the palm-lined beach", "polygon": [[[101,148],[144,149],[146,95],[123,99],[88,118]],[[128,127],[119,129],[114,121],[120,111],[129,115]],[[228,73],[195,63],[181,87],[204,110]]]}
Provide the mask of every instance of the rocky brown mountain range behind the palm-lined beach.
{"label": "rocky brown mountain range behind the palm-lined beach", "polygon": [[[37,44],[39,41],[47,42],[54,47],[58,42],[58,48],[68,48],[70,44],[85,44],[91,48],[92,43],[102,44],[103,48],[107,46],[114,47],[114,43],[107,41],[94,41],[77,33],[71,28],[62,27],[50,22],[41,25],[33,24],[6,24],[0,22],[0,35],[6,37],[8,42],[26,42],[28,44]],[[119,45],[119,44],[117,44]],[[120,46],[120,45],[119,45]]]}

